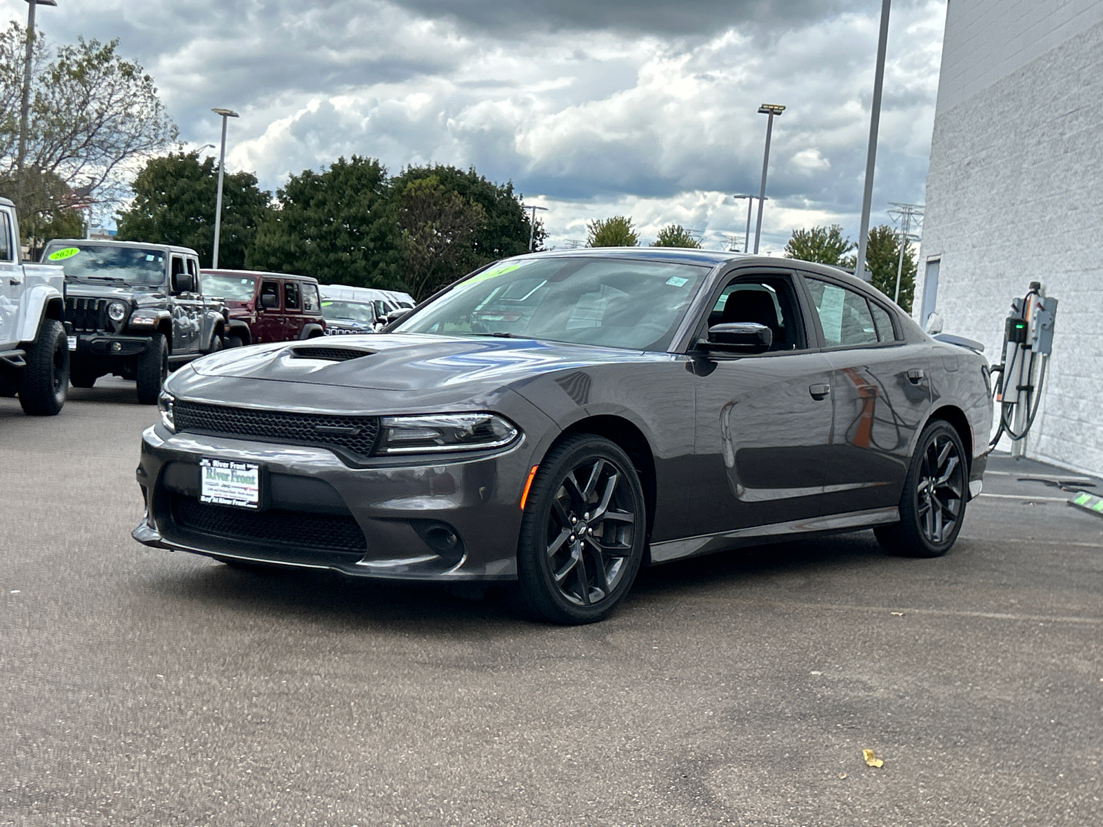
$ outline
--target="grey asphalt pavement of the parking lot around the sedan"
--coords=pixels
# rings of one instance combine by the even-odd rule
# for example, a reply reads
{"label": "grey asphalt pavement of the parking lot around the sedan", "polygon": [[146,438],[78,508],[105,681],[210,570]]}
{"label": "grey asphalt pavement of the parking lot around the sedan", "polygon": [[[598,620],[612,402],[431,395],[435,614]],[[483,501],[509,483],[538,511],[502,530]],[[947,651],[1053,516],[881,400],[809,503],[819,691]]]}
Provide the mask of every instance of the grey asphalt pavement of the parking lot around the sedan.
{"label": "grey asphalt pavement of the parking lot around the sedan", "polygon": [[1103,824],[1103,518],[1035,465],[945,558],[717,555],[561,629],[139,546],[154,416],[0,399],[0,825]]}

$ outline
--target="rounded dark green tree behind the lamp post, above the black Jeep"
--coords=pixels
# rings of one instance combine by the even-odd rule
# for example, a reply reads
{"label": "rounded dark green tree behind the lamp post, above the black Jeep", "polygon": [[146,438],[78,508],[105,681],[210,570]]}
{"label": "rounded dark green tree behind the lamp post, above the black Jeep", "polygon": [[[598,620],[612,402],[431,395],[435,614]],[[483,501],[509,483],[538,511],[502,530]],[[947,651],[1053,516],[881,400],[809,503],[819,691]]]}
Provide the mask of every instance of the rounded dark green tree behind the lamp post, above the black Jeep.
{"label": "rounded dark green tree behind the lamp post, above the black Jeep", "polygon": [[[179,244],[200,254],[204,266],[214,250],[214,211],[218,170],[213,158],[180,152],[149,161],[131,184],[135,200],[119,214],[117,238]],[[245,267],[245,256],[257,226],[268,215],[270,195],[249,172],[223,179],[222,230],[218,266]]]}

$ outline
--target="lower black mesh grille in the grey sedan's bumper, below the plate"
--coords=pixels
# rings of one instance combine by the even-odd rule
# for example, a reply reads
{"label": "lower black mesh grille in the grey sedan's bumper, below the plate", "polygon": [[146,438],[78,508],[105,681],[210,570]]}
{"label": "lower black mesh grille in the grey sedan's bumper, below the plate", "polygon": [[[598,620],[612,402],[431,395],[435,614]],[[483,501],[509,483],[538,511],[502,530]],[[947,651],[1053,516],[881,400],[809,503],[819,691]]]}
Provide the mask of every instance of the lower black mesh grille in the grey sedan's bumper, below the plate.
{"label": "lower black mesh grille in the grey sedan's bumper, below the plate", "polygon": [[367,551],[364,533],[349,515],[277,509],[250,512],[224,505],[207,505],[192,497],[174,494],[172,517],[176,525],[193,531],[264,546],[290,546],[357,555]]}

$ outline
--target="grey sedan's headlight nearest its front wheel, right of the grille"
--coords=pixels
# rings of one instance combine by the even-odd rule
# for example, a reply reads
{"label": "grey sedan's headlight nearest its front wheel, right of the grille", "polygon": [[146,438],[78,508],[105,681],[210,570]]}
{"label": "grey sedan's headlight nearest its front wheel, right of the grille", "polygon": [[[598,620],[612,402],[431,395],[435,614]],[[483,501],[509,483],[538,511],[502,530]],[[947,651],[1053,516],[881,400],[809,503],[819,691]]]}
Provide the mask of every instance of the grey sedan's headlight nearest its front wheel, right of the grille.
{"label": "grey sedan's headlight nearest its front wheel, right of the grille", "polygon": [[384,417],[377,453],[479,451],[507,445],[521,432],[496,414]]}

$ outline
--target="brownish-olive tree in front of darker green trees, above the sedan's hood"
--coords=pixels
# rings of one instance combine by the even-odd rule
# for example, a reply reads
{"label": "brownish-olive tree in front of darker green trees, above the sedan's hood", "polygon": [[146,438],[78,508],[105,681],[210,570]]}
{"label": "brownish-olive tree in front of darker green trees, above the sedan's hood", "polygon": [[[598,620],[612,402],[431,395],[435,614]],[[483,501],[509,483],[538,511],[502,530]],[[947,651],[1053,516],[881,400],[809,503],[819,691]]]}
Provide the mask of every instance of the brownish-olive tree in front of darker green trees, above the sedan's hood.
{"label": "brownish-olive tree in front of darker green trees, above the sedan's hood", "polygon": [[415,299],[420,301],[464,275],[457,266],[485,225],[482,205],[446,190],[436,175],[406,184],[398,197],[398,227],[403,276]]}

